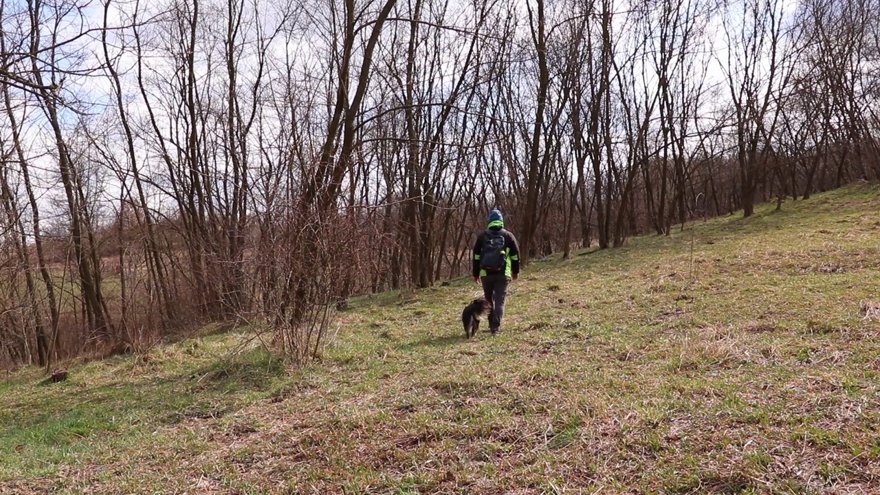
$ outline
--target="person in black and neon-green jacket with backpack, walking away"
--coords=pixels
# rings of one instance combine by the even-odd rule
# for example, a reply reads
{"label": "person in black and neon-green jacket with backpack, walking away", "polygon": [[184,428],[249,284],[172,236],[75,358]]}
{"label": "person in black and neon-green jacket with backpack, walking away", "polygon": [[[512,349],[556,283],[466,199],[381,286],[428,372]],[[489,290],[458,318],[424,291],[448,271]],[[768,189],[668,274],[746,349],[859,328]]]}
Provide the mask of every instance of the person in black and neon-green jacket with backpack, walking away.
{"label": "person in black and neon-green jacket with backpack, walking away", "polygon": [[482,282],[486,300],[492,301],[489,313],[489,331],[492,335],[501,328],[504,299],[510,279],[519,277],[519,243],[504,230],[504,217],[497,208],[489,212],[488,227],[477,236],[473,245],[473,281]]}

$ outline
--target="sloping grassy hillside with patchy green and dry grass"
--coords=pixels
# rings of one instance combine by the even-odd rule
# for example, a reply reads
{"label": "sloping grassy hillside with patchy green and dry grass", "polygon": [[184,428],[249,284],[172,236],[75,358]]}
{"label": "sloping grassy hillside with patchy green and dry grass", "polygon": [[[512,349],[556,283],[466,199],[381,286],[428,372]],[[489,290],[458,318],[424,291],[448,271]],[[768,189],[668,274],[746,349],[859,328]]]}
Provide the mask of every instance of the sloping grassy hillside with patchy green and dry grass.
{"label": "sloping grassy hillside with patchy green and dry grass", "polygon": [[353,301],[296,373],[247,332],[0,381],[0,493],[880,492],[880,189]]}

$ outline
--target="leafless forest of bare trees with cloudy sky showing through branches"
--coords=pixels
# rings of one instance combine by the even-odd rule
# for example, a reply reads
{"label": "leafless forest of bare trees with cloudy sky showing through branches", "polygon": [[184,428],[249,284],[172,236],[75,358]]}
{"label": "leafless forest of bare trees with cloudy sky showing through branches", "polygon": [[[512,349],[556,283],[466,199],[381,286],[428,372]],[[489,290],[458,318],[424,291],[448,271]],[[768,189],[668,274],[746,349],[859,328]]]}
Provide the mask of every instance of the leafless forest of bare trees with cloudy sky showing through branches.
{"label": "leafless forest of bare trees with cloudy sky showing through branches", "polygon": [[0,367],[880,176],[878,0],[0,0]]}

